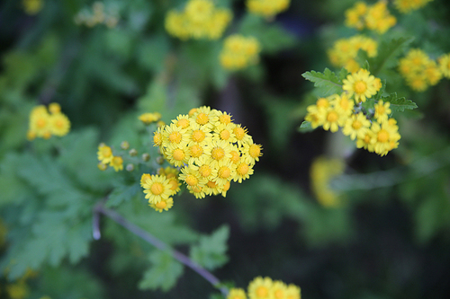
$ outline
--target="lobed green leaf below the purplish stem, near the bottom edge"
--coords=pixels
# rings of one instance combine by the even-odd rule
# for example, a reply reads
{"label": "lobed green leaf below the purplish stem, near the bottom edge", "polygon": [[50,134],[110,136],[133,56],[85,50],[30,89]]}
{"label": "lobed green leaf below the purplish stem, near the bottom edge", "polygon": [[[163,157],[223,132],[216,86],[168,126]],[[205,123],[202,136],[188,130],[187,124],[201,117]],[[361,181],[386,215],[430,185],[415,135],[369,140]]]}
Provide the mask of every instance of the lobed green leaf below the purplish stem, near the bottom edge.
{"label": "lobed green leaf below the purplish stem, near the bottom edge", "polygon": [[141,290],[156,290],[160,288],[167,292],[183,274],[183,265],[176,261],[166,251],[154,251],[148,259],[152,266],[144,273],[144,277],[139,282]]}

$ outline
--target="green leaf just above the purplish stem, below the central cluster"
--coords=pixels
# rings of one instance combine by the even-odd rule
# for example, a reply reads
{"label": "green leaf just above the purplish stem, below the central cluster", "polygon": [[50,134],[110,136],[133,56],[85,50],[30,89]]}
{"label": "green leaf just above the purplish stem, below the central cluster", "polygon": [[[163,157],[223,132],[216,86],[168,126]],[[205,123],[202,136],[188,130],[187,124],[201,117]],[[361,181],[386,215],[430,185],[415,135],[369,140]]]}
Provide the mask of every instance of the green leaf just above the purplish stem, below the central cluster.
{"label": "green leaf just above the purplish stem, below the central cluster", "polygon": [[191,259],[207,269],[219,268],[228,261],[226,256],[229,227],[220,226],[211,236],[202,236],[199,244],[191,247]]}

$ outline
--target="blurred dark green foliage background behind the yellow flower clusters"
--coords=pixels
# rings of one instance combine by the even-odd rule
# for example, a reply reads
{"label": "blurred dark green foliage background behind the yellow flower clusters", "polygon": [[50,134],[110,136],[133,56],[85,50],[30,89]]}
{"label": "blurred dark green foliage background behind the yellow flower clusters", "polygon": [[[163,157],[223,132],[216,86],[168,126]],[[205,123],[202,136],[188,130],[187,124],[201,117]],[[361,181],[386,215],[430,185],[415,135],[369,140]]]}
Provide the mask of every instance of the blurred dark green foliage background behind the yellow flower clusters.
{"label": "blurred dark green foliage background behind the yellow flower clusters", "polygon": [[[261,43],[258,63],[237,72],[220,66],[223,37],[180,40],[166,32],[166,13],[185,3],[0,4],[0,298],[218,294],[187,268],[166,292],[139,288],[147,267],[142,260],[152,248],[106,220],[102,239],[92,239],[92,207],[112,190],[130,192],[117,199],[117,206],[131,202],[129,198],[141,204],[129,210],[117,207],[122,215],[136,216],[149,231],[157,225],[164,232],[159,237],[180,251],[188,252],[186,244],[197,233],[210,234],[228,224],[228,262],[213,273],[238,287],[267,276],[301,286],[303,298],[446,298],[448,79],[415,92],[396,65],[380,74],[387,91],[419,106],[396,114],[400,146],[381,157],[356,149],[339,132],[299,131],[306,107],[317,99],[302,74],[325,67],[338,70],[327,51],[336,40],[357,33],[344,25],[345,11],[355,1],[291,1],[272,18],[252,16],[245,1],[215,1],[233,13],[224,37],[239,32]],[[396,59],[409,48],[422,48],[434,58],[450,52],[449,7],[434,0],[404,14],[389,1],[398,20],[392,35],[414,38]],[[101,17],[95,19],[95,13]],[[70,133],[58,140],[27,141],[31,109],[50,102],[58,102],[70,119]],[[234,184],[226,198],[201,200],[184,192],[171,210],[159,215],[147,207],[140,189],[125,189],[131,186],[128,174],[97,169],[100,142],[119,147],[127,140],[141,146],[139,153],[156,156],[139,114],[158,111],[168,123],[201,105],[229,112],[263,146],[255,174]],[[148,143],[139,145],[140,136]],[[327,189],[328,198],[313,186]],[[88,200],[70,214],[68,207],[77,198]],[[68,233],[66,240],[66,233],[55,232],[66,215],[71,220],[60,221],[82,232],[81,239],[70,239]],[[45,238],[36,239],[40,235]],[[67,249],[50,246],[61,238]],[[83,246],[72,254],[70,248],[78,244]],[[8,269],[12,260],[22,268]],[[26,268],[32,271],[23,275]]]}

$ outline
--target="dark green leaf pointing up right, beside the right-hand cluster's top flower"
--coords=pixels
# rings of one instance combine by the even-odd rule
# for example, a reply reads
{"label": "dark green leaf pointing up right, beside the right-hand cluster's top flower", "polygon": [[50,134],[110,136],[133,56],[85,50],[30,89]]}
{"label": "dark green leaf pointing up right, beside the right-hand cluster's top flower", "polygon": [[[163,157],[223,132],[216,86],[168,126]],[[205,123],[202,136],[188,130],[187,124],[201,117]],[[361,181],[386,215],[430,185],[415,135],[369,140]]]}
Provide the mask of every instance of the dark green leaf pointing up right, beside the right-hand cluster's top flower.
{"label": "dark green leaf pointing up right, beside the right-hand cluster's top flower", "polygon": [[400,38],[383,41],[378,46],[378,55],[368,59],[368,63],[372,66],[372,75],[378,75],[384,68],[396,66],[397,57],[401,55],[403,48],[406,48],[413,38]]}

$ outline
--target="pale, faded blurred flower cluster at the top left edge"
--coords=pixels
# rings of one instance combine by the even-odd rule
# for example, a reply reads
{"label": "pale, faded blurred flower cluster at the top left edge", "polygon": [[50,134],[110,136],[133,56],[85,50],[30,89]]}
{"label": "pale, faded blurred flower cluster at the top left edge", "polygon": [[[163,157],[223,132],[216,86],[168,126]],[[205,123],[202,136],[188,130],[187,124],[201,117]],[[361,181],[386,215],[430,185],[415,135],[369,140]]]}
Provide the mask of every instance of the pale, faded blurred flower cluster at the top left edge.
{"label": "pale, faded blurred flower cluster at the top left edge", "polygon": [[105,9],[103,2],[94,2],[91,10],[82,10],[76,13],[74,18],[76,25],[85,24],[87,27],[94,27],[97,24],[105,24],[108,28],[114,28],[119,22],[119,16],[112,6]]}

